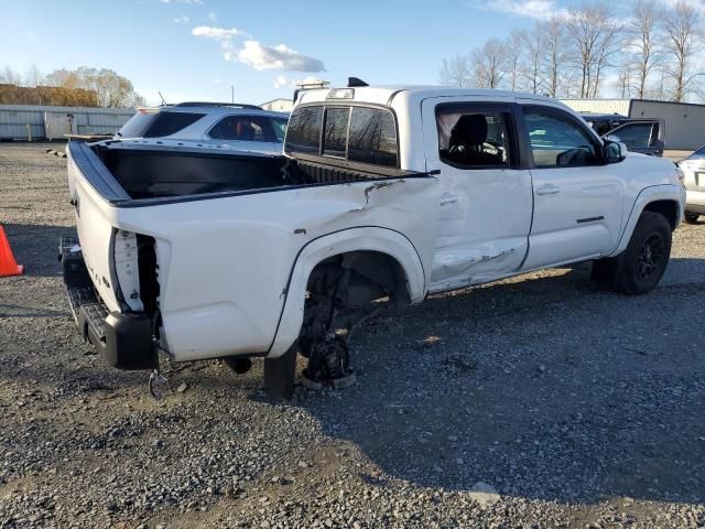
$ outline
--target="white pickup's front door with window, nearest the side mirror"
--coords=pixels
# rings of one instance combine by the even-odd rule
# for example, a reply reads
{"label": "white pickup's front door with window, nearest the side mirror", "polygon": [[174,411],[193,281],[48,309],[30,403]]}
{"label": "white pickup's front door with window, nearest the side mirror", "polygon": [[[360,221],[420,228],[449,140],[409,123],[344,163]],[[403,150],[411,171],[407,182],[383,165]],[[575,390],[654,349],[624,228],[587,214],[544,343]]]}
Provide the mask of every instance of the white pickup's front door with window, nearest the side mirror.
{"label": "white pickup's front door with window, nearest the side mirror", "polygon": [[522,105],[533,164],[531,270],[599,257],[618,241],[623,180],[603,163],[599,139],[570,112]]}

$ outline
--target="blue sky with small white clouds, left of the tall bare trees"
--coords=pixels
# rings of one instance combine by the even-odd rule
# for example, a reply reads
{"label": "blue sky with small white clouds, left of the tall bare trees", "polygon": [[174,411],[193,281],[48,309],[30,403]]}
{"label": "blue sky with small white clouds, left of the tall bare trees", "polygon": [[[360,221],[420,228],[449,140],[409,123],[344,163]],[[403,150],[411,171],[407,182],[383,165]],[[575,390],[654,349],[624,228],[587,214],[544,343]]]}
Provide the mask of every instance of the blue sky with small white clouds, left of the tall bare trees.
{"label": "blue sky with small white clouds, left of the tall bare trees", "polygon": [[[468,53],[567,0],[0,0],[0,68],[106,67],[148,102],[291,97],[292,80],[436,84]],[[323,68],[323,69],[322,69]]]}

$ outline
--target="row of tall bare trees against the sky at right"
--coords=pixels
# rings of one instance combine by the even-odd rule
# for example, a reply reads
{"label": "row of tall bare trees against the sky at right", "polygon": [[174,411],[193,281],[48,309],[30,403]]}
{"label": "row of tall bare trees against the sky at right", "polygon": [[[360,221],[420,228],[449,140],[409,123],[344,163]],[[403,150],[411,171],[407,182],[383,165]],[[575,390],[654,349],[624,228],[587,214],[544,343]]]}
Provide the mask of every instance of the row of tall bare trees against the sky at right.
{"label": "row of tall bare trees against the sky at right", "polygon": [[611,83],[623,98],[701,99],[699,13],[685,0],[664,4],[636,0],[630,17],[617,18],[606,3],[584,3],[529,31],[490,39],[469,55],[444,58],[438,80],[581,98],[598,97]]}

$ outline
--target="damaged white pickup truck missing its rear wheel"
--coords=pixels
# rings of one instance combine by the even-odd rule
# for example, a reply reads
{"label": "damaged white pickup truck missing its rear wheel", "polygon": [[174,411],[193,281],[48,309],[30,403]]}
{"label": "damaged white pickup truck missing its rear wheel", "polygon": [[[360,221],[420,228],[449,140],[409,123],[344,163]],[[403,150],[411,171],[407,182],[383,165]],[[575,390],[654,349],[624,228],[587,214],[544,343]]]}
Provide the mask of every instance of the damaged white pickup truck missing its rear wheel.
{"label": "damaged white pickup truck missing its rear wheel", "polygon": [[78,241],[64,276],[79,331],[113,366],[223,358],[291,393],[349,381],[349,331],[387,307],[594,261],[655,287],[683,216],[670,161],[601,140],[565,106],[497,90],[311,90],[276,155],[74,143]]}

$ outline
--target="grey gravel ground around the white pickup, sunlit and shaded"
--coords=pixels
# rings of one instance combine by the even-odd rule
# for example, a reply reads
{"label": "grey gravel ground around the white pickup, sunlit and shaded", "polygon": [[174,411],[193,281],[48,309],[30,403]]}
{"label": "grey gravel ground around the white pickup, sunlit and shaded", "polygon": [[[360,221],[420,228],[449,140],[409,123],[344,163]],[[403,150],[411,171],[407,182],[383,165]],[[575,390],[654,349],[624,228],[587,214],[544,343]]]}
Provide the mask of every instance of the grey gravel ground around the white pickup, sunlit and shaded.
{"label": "grey gravel ground around the white pickup, sunlit and shaded", "polygon": [[45,147],[0,143],[1,528],[705,527],[705,224],[642,298],[530,273],[369,322],[348,390],[165,363],[154,401],[74,328]]}

